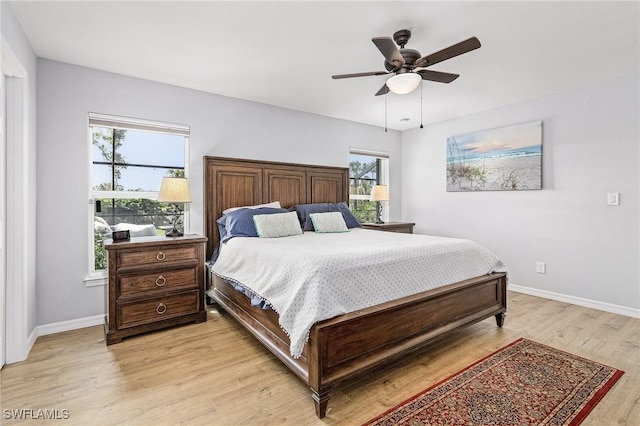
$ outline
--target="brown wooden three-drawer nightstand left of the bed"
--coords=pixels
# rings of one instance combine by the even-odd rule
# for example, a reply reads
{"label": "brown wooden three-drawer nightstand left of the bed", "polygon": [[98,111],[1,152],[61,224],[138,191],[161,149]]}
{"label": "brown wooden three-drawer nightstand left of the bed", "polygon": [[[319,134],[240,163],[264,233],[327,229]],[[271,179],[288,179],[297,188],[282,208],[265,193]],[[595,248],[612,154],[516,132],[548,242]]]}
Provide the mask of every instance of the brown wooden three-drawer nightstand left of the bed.
{"label": "brown wooden three-drawer nightstand left of the bed", "polygon": [[105,334],[124,337],[207,320],[204,308],[206,237],[138,237],[108,241]]}

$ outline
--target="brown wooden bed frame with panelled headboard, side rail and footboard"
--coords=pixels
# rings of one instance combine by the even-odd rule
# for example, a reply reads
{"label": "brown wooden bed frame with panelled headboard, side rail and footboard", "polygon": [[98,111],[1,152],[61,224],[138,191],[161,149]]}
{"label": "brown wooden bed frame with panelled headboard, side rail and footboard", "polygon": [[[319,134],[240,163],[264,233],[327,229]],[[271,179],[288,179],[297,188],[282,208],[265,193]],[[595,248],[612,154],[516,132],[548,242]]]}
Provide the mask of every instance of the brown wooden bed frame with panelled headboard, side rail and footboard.
{"label": "brown wooden bed frame with panelled headboard, side rail and footboard", "polygon": [[[347,168],[205,157],[207,257],[220,241],[216,219],[225,209],[275,200],[283,207],[339,203],[348,201],[348,184]],[[336,384],[491,316],[501,327],[507,308],[506,273],[485,274],[317,322],[302,352],[292,356],[274,310],[252,305],[233,282],[208,277],[208,297],[309,385],[319,418]]]}

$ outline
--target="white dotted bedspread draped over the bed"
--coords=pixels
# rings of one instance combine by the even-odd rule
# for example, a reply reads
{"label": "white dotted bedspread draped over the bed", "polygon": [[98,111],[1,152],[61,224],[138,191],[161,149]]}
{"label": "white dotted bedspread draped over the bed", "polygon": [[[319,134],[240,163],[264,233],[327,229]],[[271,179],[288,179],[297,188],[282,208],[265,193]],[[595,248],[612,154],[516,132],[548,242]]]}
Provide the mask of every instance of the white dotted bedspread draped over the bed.
{"label": "white dotted bedspread draped over the bed", "polygon": [[269,302],[299,357],[318,321],[506,268],[473,241],[356,228],[232,238],[212,271]]}

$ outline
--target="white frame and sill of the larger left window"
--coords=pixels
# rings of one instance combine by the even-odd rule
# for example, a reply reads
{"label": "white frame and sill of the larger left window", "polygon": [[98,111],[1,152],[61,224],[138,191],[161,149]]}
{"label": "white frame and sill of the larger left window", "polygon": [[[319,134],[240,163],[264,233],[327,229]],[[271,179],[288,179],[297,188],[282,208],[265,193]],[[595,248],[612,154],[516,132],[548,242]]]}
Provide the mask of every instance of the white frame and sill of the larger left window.
{"label": "white frame and sill of the larger left window", "polygon": [[[88,176],[93,176],[93,137],[92,127],[105,127],[111,129],[134,130],[141,132],[160,133],[174,136],[182,136],[184,138],[184,176],[189,177],[189,138],[190,127],[182,124],[171,124],[159,121],[151,121],[130,117],[120,117],[106,114],[89,113],[87,117],[87,150],[88,158]],[[107,269],[95,270],[95,200],[97,199],[149,199],[157,200],[158,191],[94,191],[92,178],[89,180],[88,188],[88,274],[84,279],[87,287],[103,286],[107,284]],[[184,232],[188,233],[190,227],[190,209],[185,204],[184,214]]]}

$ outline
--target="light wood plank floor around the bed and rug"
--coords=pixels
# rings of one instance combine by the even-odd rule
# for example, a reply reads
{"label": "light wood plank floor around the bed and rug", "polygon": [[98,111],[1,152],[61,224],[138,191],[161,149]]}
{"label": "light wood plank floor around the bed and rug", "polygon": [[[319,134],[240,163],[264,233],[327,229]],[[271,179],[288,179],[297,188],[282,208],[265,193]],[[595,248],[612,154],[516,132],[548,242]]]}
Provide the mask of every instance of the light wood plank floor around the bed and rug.
{"label": "light wood plank floor around the bed and rug", "polygon": [[[315,417],[308,388],[228,315],[107,347],[101,327],[38,338],[0,372],[5,410],[68,410],[73,425],[356,425],[525,337],[625,371],[583,425],[640,425],[640,320],[509,293],[505,326],[473,325],[334,388]],[[29,423],[29,422],[27,422]]]}

